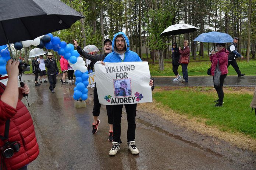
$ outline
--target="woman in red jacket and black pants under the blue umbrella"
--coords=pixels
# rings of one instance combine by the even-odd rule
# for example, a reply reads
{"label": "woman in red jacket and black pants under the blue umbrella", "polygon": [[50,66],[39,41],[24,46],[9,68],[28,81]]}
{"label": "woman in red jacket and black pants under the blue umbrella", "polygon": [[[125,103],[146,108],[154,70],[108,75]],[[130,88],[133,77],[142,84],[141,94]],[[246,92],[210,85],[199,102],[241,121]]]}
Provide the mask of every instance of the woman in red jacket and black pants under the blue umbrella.
{"label": "woman in red jacket and black pants under the blue umbrella", "polygon": [[219,61],[219,68],[221,71],[221,76],[220,76],[220,86],[214,85],[214,89],[216,90],[218,94],[218,100],[214,102],[218,102],[215,106],[216,107],[221,107],[223,106],[223,99],[224,99],[224,92],[223,92],[223,83],[224,79],[227,77],[228,74],[228,54],[229,52],[227,49],[225,49],[225,43],[216,44],[218,52],[211,51],[210,61],[211,61],[211,75],[214,77],[214,71],[215,67]]}

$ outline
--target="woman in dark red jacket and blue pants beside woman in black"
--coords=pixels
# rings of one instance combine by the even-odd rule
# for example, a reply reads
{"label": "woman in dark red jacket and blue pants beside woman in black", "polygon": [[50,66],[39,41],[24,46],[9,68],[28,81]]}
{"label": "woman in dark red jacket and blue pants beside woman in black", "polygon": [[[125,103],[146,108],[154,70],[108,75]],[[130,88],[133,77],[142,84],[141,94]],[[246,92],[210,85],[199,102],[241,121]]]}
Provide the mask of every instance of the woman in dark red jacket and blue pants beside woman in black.
{"label": "woman in dark red jacket and blue pants beside woman in black", "polygon": [[185,82],[188,82],[188,63],[190,60],[190,49],[188,46],[188,40],[184,40],[183,44],[184,44],[183,49],[179,47],[179,54],[181,55],[179,58],[179,63],[181,63],[182,75],[183,75],[183,80],[181,82],[185,83]]}

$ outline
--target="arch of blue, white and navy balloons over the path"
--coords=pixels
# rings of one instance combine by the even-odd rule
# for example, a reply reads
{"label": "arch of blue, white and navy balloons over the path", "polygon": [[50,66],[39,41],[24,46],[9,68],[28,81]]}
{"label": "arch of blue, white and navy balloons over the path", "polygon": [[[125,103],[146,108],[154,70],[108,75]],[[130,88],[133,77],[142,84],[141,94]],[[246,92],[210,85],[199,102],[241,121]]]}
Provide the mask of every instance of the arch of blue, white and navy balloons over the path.
{"label": "arch of blue, white and navy balloons over the path", "polygon": [[[23,47],[29,47],[30,45],[37,46],[37,48],[53,49],[58,52],[59,55],[64,56],[70,66],[75,70],[75,88],[73,98],[75,100],[86,100],[88,98],[88,70],[85,66],[85,61],[77,50],[74,50],[73,44],[67,44],[65,41],[60,41],[60,38],[49,33],[44,36],[35,38],[34,40],[27,40],[22,42],[15,42],[14,48],[21,50]],[[7,74],[6,62],[11,59],[10,52],[7,45],[0,46],[0,74]]]}

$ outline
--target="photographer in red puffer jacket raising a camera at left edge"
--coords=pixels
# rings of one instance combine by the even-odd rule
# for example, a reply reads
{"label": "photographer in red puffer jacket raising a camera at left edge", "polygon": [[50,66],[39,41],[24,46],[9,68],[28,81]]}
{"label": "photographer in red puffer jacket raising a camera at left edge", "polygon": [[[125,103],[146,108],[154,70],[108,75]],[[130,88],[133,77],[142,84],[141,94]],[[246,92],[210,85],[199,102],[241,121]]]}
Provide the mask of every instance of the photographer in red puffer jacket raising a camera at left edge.
{"label": "photographer in red puffer jacket raising a camera at left edge", "polygon": [[[22,103],[23,93],[28,94],[28,85],[18,88],[19,61],[12,59],[7,62],[7,85],[0,82],[0,159],[3,170],[26,170],[27,165],[39,154],[35,127],[31,115]],[[8,123],[10,121],[10,123]],[[9,124],[7,128],[6,124]],[[8,130],[8,135],[4,132]],[[10,147],[6,148],[7,143]],[[12,144],[13,143],[13,144]],[[19,146],[19,151],[17,147]],[[6,150],[13,149],[13,155]],[[11,156],[10,158],[6,158]]]}

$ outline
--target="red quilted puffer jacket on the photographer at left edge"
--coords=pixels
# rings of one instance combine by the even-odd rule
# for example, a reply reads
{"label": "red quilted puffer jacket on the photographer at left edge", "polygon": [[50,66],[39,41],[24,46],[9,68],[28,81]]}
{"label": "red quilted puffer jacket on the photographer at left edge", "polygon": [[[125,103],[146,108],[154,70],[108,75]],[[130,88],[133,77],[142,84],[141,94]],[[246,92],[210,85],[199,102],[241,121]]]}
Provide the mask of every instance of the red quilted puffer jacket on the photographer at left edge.
{"label": "red quilted puffer jacket on the photographer at left edge", "polygon": [[[0,97],[5,86],[0,83]],[[0,140],[0,156],[4,159],[7,170],[17,170],[35,160],[39,154],[36,142],[35,128],[31,115],[26,106],[18,100],[16,109],[0,100],[0,135],[4,136],[5,122],[10,119],[9,141],[21,144],[20,150],[14,152],[11,158],[3,158],[1,147],[4,141]],[[5,167],[3,168],[6,169]]]}

